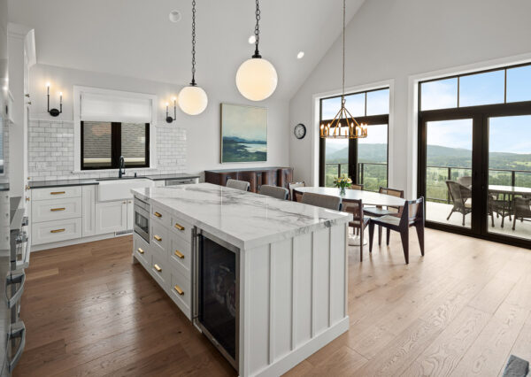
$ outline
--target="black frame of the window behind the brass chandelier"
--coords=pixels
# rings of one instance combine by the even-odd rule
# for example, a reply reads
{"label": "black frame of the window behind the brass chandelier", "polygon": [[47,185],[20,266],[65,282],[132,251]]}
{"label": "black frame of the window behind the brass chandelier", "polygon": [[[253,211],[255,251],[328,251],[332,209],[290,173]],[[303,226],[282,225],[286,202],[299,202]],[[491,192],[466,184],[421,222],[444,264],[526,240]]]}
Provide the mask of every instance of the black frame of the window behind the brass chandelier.
{"label": "black frame of the window behind the brass chandelier", "polygon": [[[367,93],[380,91],[380,90],[389,90],[389,97],[391,96],[390,87],[381,87],[370,90],[362,90],[359,92],[346,93],[345,96],[365,94],[365,114],[367,113]],[[327,96],[319,98],[319,124],[331,122],[333,119],[322,119],[323,114],[323,101],[332,98],[339,98],[339,96]],[[339,110],[339,109],[338,109]],[[390,111],[390,108],[389,108]],[[388,140],[387,140],[387,157],[386,157],[386,181],[389,186],[389,112],[387,114],[379,115],[369,115],[369,116],[358,116],[354,117],[358,123],[365,123],[367,125],[367,133],[371,132],[371,126],[381,126],[387,125],[388,130]],[[345,119],[341,119],[342,123],[346,124]],[[358,139],[348,139],[349,140],[349,176],[352,178],[355,183],[362,183],[359,180],[359,163],[358,163]],[[324,187],[326,183],[326,139],[319,137],[319,186]],[[341,172],[343,173],[343,172]],[[364,188],[365,189],[365,188]]]}

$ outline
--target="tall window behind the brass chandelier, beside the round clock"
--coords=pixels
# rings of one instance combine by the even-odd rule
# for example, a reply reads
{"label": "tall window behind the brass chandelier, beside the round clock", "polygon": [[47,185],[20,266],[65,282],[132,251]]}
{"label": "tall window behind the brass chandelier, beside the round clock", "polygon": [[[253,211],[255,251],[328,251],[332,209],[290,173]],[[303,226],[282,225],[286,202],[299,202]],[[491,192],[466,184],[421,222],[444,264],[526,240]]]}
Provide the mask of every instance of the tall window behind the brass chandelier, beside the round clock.
{"label": "tall window behind the brass chandelier, beside the round clock", "polygon": [[[365,139],[321,139],[319,185],[333,186],[341,174],[378,191],[388,185],[389,88],[352,93],[345,105],[358,123],[368,125]],[[341,96],[320,100],[320,121],[334,119],[341,106]],[[342,122],[345,124],[345,122]]]}

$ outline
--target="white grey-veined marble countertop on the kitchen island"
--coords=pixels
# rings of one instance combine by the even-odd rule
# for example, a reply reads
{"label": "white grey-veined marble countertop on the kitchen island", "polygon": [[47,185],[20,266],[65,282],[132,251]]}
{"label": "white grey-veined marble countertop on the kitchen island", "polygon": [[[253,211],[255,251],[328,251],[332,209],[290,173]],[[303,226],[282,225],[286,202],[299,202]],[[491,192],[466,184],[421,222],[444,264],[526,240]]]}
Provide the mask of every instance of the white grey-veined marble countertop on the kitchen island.
{"label": "white grey-veined marble countertop on the kitchen island", "polygon": [[343,224],[351,219],[312,205],[279,200],[211,183],[135,188],[133,194],[241,250]]}

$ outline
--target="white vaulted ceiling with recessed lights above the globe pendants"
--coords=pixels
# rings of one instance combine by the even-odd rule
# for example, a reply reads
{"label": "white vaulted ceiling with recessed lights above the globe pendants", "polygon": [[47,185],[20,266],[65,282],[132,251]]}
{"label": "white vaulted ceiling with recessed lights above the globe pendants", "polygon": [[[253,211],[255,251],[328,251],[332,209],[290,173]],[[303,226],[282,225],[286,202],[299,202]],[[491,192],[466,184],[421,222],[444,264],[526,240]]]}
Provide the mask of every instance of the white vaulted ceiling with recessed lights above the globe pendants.
{"label": "white vaulted ceiling with recessed lights above the globe pendants", "polygon": [[[252,55],[255,2],[196,2],[196,80],[208,89]],[[347,0],[347,21],[363,2]],[[275,96],[290,98],[340,35],[342,0],[267,0],[260,8],[260,52],[279,73]],[[169,21],[172,10],[180,22]],[[10,0],[9,12],[11,22],[35,27],[37,63],[190,81],[191,0]]]}

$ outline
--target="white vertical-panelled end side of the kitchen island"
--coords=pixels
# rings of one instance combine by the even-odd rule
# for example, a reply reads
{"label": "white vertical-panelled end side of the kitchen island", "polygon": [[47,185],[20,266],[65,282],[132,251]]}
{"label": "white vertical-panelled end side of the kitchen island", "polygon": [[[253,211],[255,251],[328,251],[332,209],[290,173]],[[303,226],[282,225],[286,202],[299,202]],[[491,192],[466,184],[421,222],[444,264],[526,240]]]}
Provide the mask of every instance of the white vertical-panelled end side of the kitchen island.
{"label": "white vertical-panelled end side of the kitchen island", "polygon": [[348,329],[346,224],[241,254],[240,374],[278,375]]}

